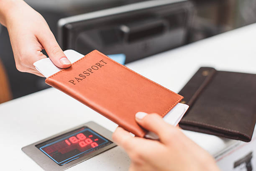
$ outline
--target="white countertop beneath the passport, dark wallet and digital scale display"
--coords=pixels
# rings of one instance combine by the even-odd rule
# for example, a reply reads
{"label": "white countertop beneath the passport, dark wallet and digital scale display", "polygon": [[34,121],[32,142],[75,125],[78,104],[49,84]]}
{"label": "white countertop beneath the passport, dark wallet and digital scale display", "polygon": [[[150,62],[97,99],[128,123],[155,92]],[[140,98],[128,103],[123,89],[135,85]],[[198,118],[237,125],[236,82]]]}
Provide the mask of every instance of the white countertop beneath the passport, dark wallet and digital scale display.
{"label": "white countertop beneath the passport, dark wallet and digital scale display", "polygon": [[[179,92],[201,66],[256,74],[256,24],[127,64],[129,68]],[[94,121],[114,131],[117,125],[68,95],[49,88],[0,104],[0,161],[3,170],[41,171],[21,151],[23,146],[77,125]],[[241,143],[213,135],[184,131],[213,156]],[[129,158],[115,147],[82,162],[70,171],[128,170]]]}

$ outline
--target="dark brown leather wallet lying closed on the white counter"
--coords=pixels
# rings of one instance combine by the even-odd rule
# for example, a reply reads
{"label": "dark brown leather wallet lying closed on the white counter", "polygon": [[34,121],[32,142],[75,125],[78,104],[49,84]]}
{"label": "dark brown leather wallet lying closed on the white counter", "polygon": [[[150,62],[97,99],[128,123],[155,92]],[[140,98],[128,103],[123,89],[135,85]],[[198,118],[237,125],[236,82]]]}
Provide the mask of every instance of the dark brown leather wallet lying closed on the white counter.
{"label": "dark brown leather wallet lying closed on the white counter", "polygon": [[179,126],[251,141],[256,123],[256,74],[202,67],[179,92],[189,110]]}

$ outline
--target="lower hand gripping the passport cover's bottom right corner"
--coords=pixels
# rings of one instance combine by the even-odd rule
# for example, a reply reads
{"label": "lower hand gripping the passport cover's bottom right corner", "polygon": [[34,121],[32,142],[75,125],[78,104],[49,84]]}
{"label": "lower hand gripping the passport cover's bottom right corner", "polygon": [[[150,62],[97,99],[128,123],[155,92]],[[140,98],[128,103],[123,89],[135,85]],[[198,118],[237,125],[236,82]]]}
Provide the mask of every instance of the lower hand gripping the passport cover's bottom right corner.
{"label": "lower hand gripping the passport cover's bottom right corner", "polygon": [[209,153],[159,115],[138,112],[136,121],[156,133],[160,140],[133,137],[118,127],[113,140],[131,158],[129,171],[219,171]]}

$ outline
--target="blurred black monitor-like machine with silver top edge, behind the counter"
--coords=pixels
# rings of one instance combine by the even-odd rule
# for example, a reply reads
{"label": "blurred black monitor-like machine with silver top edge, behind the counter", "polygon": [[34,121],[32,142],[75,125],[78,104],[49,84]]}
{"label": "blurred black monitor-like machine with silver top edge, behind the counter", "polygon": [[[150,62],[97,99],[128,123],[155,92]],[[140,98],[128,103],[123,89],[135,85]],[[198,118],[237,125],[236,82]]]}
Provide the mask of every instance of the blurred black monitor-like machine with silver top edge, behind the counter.
{"label": "blurred black monitor-like machine with silver top edge, behind the counter", "polygon": [[194,9],[188,0],[154,0],[59,20],[61,47],[125,54],[126,63],[187,43]]}

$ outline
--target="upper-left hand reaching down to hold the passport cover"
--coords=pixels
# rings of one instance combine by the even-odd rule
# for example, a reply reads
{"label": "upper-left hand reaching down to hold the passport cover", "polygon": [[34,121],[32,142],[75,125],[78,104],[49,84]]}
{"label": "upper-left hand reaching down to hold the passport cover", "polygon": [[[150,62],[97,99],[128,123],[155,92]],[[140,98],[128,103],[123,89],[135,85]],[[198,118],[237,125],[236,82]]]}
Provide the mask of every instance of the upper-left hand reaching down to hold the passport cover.
{"label": "upper-left hand reaching down to hold the passport cover", "polygon": [[71,66],[46,20],[23,0],[0,0],[0,22],[8,29],[19,71],[44,77],[33,66],[34,62],[46,58],[43,49],[59,68]]}

